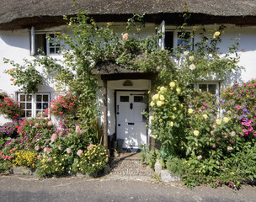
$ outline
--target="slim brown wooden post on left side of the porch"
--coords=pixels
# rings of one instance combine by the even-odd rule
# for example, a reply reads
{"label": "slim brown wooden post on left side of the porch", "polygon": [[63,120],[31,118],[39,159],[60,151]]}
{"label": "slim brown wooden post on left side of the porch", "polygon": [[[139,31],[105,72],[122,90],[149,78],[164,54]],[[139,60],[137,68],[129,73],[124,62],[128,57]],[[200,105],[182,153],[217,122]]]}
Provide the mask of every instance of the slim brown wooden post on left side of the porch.
{"label": "slim brown wooden post on left side of the porch", "polygon": [[104,124],[103,124],[103,136],[104,136],[104,147],[108,150],[108,81],[103,80],[103,111],[104,111]]}

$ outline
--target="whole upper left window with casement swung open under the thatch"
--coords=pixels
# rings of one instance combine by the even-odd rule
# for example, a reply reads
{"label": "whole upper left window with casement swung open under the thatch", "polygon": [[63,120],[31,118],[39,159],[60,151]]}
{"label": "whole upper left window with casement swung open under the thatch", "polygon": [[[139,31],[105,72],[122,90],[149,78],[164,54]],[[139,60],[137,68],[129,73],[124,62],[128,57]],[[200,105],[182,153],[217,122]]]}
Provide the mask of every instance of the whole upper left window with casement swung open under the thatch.
{"label": "whole upper left window with casement swung open under the thatch", "polygon": [[[50,40],[47,40],[49,38]],[[56,55],[61,50],[61,45],[57,41],[58,37],[54,33],[35,32],[31,29],[31,55]]]}

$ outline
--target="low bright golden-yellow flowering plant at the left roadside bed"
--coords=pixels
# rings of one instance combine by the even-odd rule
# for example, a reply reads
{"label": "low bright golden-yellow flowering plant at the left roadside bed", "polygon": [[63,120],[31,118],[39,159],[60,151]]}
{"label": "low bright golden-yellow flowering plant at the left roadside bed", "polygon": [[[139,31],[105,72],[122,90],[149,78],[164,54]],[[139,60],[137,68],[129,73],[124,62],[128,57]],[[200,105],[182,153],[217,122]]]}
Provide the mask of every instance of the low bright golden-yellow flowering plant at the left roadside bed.
{"label": "low bright golden-yellow flowering plant at the left roadside bed", "polygon": [[15,152],[14,157],[14,166],[35,167],[37,161],[37,152],[29,150],[19,150]]}

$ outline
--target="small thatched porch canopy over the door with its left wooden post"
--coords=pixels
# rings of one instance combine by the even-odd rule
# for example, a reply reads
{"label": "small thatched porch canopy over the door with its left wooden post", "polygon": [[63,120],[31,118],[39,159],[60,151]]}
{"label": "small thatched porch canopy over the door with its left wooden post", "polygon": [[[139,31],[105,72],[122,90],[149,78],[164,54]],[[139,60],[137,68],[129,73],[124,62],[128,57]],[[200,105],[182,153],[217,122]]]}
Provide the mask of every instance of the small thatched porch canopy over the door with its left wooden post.
{"label": "small thatched porch canopy over the door with its left wooden post", "polygon": [[115,61],[99,61],[93,67],[92,74],[100,75],[104,83],[104,146],[108,148],[108,81],[141,78],[153,81],[157,76],[157,72],[141,72],[141,70],[131,69],[129,66],[117,64]]}

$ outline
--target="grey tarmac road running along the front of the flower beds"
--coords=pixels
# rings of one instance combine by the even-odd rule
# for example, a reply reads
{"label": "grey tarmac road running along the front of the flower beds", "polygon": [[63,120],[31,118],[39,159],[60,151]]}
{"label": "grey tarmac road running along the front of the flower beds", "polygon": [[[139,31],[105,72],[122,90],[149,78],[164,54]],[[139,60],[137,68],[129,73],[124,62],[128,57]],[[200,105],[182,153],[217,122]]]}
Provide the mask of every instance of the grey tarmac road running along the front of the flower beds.
{"label": "grey tarmac road running along the front of the flower beds", "polygon": [[200,186],[187,189],[181,183],[109,180],[107,178],[45,178],[0,176],[0,201],[256,201],[256,188]]}

